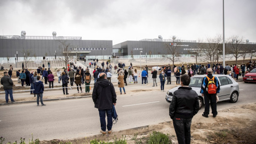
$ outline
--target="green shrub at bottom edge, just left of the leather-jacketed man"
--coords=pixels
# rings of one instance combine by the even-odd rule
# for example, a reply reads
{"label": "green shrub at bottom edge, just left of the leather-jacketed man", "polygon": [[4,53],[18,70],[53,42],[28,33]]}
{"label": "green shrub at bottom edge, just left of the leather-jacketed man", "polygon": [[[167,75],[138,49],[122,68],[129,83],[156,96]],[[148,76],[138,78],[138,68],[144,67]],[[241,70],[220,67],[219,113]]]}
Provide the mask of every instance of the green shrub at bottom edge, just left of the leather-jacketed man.
{"label": "green shrub at bottom edge, just left of the leather-jacketed man", "polygon": [[148,144],[167,144],[172,143],[171,140],[169,140],[169,137],[167,134],[164,134],[162,132],[153,132],[150,134],[149,140],[147,141]]}

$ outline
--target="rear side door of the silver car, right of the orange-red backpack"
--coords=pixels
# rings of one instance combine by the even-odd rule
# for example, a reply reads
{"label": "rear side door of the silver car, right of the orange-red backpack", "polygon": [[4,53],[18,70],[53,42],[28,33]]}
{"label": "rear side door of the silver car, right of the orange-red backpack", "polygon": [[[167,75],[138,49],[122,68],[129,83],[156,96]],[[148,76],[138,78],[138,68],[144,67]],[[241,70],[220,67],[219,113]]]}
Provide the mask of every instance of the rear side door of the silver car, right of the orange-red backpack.
{"label": "rear side door of the silver car, right of the orange-red backpack", "polygon": [[226,76],[218,76],[220,82],[220,93],[218,94],[220,100],[229,99],[233,87],[228,83]]}

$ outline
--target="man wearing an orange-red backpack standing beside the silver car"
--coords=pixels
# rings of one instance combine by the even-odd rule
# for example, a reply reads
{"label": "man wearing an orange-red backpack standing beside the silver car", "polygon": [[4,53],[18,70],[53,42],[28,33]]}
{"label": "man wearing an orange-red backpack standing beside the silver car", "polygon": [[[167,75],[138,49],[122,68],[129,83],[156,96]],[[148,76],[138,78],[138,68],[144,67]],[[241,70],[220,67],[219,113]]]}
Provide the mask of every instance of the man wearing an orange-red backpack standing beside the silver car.
{"label": "man wearing an orange-red backpack standing beside the silver car", "polygon": [[207,70],[207,76],[203,78],[202,86],[201,86],[201,92],[202,97],[204,97],[204,113],[202,116],[209,117],[210,107],[209,102],[211,102],[211,108],[212,108],[212,114],[213,117],[216,117],[217,112],[217,100],[218,95],[217,93],[220,92],[220,83],[217,79],[217,77],[212,75],[212,69],[208,68]]}

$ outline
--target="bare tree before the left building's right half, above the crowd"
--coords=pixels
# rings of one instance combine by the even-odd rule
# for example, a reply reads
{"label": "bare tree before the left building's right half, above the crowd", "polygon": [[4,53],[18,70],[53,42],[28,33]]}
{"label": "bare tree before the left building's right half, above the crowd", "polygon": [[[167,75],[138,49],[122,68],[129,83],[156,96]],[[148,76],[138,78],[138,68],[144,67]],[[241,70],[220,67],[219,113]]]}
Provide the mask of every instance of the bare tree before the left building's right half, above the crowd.
{"label": "bare tree before the left building's right half, above the crowd", "polygon": [[61,57],[59,59],[65,62],[65,67],[67,69],[67,65],[71,59],[73,59],[72,50],[73,47],[67,40],[57,40],[60,43],[59,45],[59,54]]}

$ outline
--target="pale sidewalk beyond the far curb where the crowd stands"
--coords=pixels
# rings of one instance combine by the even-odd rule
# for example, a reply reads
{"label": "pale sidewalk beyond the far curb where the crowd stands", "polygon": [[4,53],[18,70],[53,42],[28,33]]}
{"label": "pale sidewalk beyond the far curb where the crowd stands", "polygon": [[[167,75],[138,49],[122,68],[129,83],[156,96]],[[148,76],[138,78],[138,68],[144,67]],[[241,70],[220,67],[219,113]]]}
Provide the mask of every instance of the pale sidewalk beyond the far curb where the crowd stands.
{"label": "pale sidewalk beyond the far curb where the crowd stands", "polygon": [[[111,78],[111,82],[113,83],[114,87],[115,87],[115,91],[117,96],[121,96],[120,92],[119,92],[119,87],[118,87],[118,79],[116,78],[117,74],[113,74],[112,78]],[[172,84],[171,85],[167,85],[165,83],[165,91],[168,91],[170,89],[172,89],[175,86],[175,82],[174,82],[175,77],[172,76]],[[161,91],[161,84],[159,82],[159,78],[157,79],[157,87],[153,87],[153,80],[152,79],[148,79],[148,84],[147,85],[141,85],[141,77],[138,77],[138,84],[134,84],[134,83],[129,83],[129,79],[126,79],[127,81],[127,86],[125,86],[125,91],[126,94],[131,94],[134,92],[140,92],[140,91]],[[55,85],[55,83],[54,83]],[[57,85],[58,84],[57,82]],[[82,90],[83,93],[81,93],[81,91],[79,90],[79,93],[77,93],[77,88],[73,87],[72,90],[70,90],[70,88],[68,88],[68,95],[63,95],[62,89],[58,89],[58,90],[52,90],[50,89],[49,91],[45,91],[43,93],[43,100],[66,100],[66,99],[74,99],[74,98],[88,98],[92,96],[92,91],[93,91],[93,85],[94,85],[94,80],[92,79],[91,81],[91,90],[90,93],[87,94],[85,93],[85,84],[82,85]],[[68,85],[70,86],[70,85]],[[165,95],[163,93],[163,95]],[[164,96],[163,96],[164,97]],[[35,102],[36,103],[36,97],[34,97],[34,94],[30,94],[30,91],[24,92],[24,93],[13,93],[13,98],[16,102],[14,103],[24,103],[24,102]],[[5,104],[5,94],[4,93],[0,93],[0,105],[6,105]],[[9,103],[7,105],[12,105],[12,103]]]}

